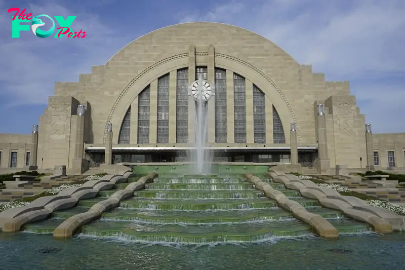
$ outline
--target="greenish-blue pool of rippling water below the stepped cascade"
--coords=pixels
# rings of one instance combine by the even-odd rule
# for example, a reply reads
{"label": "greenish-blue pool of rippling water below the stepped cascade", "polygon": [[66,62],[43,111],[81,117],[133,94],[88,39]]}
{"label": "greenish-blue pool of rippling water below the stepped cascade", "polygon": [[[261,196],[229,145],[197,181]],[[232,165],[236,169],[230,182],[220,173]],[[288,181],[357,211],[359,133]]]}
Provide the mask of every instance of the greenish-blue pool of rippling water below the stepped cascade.
{"label": "greenish-blue pool of rippling water below the stepped cascade", "polygon": [[249,243],[139,243],[79,235],[0,234],[2,270],[403,270],[405,234],[339,240],[270,238]]}

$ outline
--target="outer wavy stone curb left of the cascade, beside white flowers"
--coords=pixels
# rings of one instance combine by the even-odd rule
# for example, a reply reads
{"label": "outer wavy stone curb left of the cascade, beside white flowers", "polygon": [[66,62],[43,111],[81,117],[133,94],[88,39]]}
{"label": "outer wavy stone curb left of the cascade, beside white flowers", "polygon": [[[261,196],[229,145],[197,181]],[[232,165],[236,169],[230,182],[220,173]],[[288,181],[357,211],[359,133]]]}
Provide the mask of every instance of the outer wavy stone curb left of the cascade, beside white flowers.
{"label": "outer wavy stone curb left of the cascade, beside white flowers", "polygon": [[53,211],[71,208],[79,200],[94,198],[99,190],[125,182],[131,175],[133,173],[130,170],[122,174],[105,175],[82,186],[66,188],[58,195],[41,197],[26,206],[7,209],[0,213],[0,226],[5,233],[19,232],[24,224],[46,219]]}

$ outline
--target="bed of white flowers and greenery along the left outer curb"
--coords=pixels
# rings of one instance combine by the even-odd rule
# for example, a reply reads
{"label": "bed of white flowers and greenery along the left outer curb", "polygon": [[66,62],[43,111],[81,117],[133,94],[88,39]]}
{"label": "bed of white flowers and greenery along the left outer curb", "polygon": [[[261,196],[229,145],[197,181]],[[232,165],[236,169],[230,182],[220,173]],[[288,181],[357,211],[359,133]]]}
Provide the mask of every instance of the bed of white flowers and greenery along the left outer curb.
{"label": "bed of white flowers and greenery along the left outer curb", "polygon": [[90,181],[90,180],[99,180],[104,175],[107,175],[107,174],[106,173],[100,173],[100,174],[95,174],[95,175],[89,175],[86,178],[84,178],[83,180],[78,180],[78,181],[71,182],[69,184],[63,184],[63,185],[60,185],[58,187],[47,189],[47,190],[44,190],[43,192],[41,192],[41,193],[39,193],[39,194],[37,194],[35,196],[25,197],[25,198],[18,199],[18,200],[12,201],[12,202],[7,202],[7,203],[0,203],[0,212],[4,211],[4,210],[7,210],[9,208],[26,206],[30,202],[33,202],[36,199],[41,198],[41,197],[57,195],[60,191],[66,189],[66,188],[78,187],[78,186],[81,186],[82,184],[84,184],[84,183],[86,183],[87,181]]}

